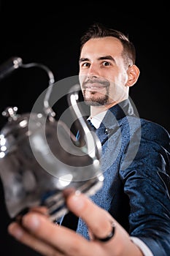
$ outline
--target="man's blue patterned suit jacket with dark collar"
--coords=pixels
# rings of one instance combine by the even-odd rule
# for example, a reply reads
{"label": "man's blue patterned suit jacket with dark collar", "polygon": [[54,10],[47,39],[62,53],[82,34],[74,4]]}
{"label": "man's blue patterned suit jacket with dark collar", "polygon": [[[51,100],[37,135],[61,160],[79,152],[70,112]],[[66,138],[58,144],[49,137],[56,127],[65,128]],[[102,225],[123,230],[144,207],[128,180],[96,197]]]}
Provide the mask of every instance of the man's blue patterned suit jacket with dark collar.
{"label": "man's blue patterned suit jacket with dark collar", "polygon": [[[169,133],[139,118],[125,100],[107,111],[96,134],[104,184],[91,199],[153,255],[170,255]],[[88,238],[82,219],[77,233]]]}

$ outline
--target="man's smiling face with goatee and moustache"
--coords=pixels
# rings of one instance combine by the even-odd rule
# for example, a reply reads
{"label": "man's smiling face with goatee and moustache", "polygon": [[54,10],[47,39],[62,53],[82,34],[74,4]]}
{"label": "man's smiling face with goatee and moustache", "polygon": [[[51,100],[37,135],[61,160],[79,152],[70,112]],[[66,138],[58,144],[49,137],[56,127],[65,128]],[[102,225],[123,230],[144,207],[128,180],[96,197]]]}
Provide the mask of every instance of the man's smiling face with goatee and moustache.
{"label": "man's smiling face with goatee and moustache", "polygon": [[115,37],[90,39],[80,54],[80,86],[89,105],[109,105],[128,97],[128,67]]}

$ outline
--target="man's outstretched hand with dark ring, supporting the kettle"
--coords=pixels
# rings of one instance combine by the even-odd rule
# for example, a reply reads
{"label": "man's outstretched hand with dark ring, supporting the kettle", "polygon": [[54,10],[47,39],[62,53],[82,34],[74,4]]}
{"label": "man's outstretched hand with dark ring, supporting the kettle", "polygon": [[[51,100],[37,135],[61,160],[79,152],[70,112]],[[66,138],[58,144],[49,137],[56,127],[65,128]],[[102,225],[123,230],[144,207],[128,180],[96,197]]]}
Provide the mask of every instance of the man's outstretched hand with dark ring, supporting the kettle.
{"label": "man's outstretched hand with dark ring, supporting the kettle", "polygon": [[[45,256],[142,256],[123,227],[88,197],[79,192],[72,193],[66,197],[66,204],[87,223],[90,241],[67,227],[54,224],[47,215],[40,213],[41,210],[28,212],[22,219],[22,226],[17,222],[10,224],[9,234]],[[112,222],[115,235],[107,242],[98,241],[95,237],[107,237],[112,231]]]}

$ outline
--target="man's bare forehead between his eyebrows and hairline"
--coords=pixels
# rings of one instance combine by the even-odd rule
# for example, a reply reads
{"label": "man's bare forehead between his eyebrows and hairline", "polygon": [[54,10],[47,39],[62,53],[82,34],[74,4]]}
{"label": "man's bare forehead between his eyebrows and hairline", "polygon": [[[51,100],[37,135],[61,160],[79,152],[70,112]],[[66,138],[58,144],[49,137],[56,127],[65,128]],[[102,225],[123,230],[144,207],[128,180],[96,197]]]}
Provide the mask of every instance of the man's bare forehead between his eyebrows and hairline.
{"label": "man's bare forehead between his eyebrows and hairline", "polygon": [[89,58],[90,56],[120,56],[123,51],[123,45],[116,37],[100,37],[89,39],[82,47],[80,58]]}

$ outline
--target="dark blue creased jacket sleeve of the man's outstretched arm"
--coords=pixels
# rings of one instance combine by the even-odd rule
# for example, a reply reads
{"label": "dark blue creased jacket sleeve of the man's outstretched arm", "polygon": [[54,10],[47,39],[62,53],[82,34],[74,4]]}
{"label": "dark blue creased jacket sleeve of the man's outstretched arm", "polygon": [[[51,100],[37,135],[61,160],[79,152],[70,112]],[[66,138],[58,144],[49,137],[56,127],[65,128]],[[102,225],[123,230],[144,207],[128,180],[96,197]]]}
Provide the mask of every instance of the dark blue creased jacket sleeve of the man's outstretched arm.
{"label": "dark blue creased jacket sleeve of the man's outstretched arm", "polygon": [[154,256],[170,255],[169,142],[166,129],[143,121],[121,162],[120,178],[131,207],[129,234],[141,239]]}

